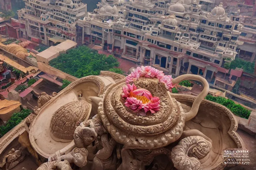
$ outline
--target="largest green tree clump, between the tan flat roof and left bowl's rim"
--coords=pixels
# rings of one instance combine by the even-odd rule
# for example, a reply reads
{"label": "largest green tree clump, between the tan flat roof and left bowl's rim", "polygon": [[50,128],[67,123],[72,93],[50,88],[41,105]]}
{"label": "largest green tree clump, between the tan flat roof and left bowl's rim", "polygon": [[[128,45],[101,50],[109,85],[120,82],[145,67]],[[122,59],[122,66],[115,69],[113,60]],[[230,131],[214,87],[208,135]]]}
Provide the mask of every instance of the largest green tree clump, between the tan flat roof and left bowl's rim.
{"label": "largest green tree clump, between the tan flat roof and left bowl's rim", "polygon": [[99,75],[101,70],[107,71],[118,67],[119,62],[112,55],[107,57],[87,46],[79,46],[51,60],[50,66],[81,78],[89,75]]}

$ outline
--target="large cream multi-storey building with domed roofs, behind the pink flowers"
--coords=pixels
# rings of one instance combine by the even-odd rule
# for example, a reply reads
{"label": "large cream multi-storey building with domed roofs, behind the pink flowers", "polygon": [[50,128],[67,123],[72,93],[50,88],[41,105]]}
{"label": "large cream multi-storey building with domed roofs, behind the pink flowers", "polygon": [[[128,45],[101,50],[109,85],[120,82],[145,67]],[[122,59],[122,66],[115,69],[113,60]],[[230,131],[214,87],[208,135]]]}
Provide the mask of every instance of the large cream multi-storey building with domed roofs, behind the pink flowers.
{"label": "large cream multi-storey building with domed roofs, behind the pink flowers", "polygon": [[141,65],[175,76],[198,74],[214,83],[213,77],[224,79],[228,73],[221,67],[224,62],[238,54],[243,25],[228,18],[222,3],[210,12],[201,9],[203,3],[103,0],[92,14],[77,21],[81,30],[77,36],[82,43],[102,45]]}

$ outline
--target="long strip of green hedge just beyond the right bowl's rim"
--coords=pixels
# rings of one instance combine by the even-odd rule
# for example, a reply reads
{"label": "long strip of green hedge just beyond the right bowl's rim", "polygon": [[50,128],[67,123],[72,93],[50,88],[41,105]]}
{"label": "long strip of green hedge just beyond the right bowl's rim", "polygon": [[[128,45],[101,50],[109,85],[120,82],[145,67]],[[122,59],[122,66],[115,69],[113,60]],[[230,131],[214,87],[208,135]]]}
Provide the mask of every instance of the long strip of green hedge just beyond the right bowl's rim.
{"label": "long strip of green hedge just beyond the right bowl's rim", "polygon": [[236,116],[239,116],[241,118],[245,118],[248,119],[251,111],[248,109],[245,109],[244,107],[242,107],[241,105],[237,105],[235,104],[234,101],[230,100],[230,99],[226,99],[224,97],[213,97],[211,95],[207,95],[205,97],[206,100],[212,101],[212,102],[216,102],[219,103],[223,106],[225,106],[226,108],[228,108],[233,114],[235,114]]}

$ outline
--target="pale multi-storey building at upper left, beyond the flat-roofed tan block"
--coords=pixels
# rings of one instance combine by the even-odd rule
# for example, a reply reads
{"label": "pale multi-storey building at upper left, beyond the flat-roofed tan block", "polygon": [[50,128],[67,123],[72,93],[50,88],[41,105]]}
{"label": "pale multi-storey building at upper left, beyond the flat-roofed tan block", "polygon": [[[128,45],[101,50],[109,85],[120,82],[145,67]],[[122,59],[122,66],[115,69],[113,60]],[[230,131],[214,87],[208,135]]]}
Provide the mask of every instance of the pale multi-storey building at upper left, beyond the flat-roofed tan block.
{"label": "pale multi-storey building at upper left, beyond the flat-roofed tan block", "polygon": [[21,37],[48,46],[76,41],[76,21],[87,16],[80,0],[25,0],[18,11]]}

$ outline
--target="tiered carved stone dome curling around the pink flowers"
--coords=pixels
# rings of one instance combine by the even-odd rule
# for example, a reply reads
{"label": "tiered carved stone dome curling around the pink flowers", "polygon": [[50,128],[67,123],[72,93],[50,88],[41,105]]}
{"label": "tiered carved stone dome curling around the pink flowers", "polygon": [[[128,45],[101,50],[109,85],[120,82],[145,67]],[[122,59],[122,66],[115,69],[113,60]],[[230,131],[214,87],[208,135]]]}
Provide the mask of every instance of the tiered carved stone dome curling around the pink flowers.
{"label": "tiered carved stone dome curling around the pink flowers", "polygon": [[140,77],[134,82],[160,98],[160,110],[154,115],[140,116],[125,107],[121,97],[125,79],[109,87],[99,116],[103,126],[118,142],[131,148],[153,149],[166,146],[177,140],[184,127],[183,109],[158,79]]}

